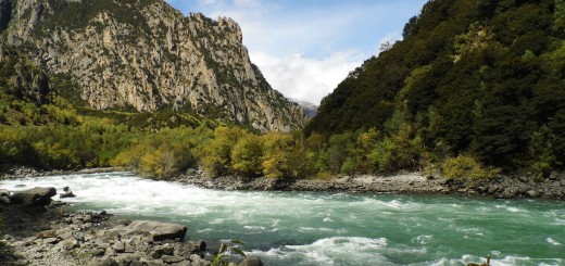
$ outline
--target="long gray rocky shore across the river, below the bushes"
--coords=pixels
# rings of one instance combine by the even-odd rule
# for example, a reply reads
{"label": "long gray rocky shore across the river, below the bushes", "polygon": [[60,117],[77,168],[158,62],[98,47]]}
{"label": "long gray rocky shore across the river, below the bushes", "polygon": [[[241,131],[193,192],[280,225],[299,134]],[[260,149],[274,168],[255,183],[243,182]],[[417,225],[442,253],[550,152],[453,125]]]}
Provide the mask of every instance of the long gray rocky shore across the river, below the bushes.
{"label": "long gray rocky shore across the river, below the bushes", "polygon": [[351,193],[411,193],[484,195],[498,199],[565,199],[565,173],[552,173],[544,180],[526,176],[499,176],[478,181],[448,180],[420,173],[393,176],[341,176],[319,179],[273,179],[240,177],[206,178],[202,170],[190,170],[173,180],[208,189],[264,191],[327,191]]}

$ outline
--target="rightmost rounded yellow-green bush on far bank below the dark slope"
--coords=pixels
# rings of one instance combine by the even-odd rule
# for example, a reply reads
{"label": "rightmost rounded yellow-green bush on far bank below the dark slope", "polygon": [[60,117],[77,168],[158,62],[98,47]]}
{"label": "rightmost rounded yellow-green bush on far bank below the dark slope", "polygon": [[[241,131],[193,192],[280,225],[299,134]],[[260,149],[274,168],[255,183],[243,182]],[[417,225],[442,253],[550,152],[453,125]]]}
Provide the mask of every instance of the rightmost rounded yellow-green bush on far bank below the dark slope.
{"label": "rightmost rounded yellow-green bush on far bank below the dark slope", "polygon": [[500,169],[486,168],[475,157],[468,155],[450,157],[441,166],[441,174],[447,179],[477,180],[491,178],[499,173]]}

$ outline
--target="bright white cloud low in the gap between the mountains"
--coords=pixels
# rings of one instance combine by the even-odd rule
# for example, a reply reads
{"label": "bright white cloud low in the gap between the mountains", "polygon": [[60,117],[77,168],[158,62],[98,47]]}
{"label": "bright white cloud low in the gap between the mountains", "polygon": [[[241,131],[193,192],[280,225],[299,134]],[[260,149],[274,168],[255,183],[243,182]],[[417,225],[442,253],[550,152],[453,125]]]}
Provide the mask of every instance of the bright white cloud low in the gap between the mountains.
{"label": "bright white cloud low in the gap between the mountains", "polygon": [[353,50],[335,52],[321,60],[301,54],[277,58],[264,52],[251,52],[250,56],[274,89],[315,104],[366,58]]}

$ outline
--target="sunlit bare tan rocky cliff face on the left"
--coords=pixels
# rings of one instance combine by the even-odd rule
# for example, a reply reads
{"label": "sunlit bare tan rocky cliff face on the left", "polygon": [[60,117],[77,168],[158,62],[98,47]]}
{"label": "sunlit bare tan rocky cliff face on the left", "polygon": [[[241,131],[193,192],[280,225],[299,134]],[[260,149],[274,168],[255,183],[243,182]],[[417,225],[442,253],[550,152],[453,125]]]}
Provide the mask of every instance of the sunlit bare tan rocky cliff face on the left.
{"label": "sunlit bare tan rocky cliff face on the left", "polygon": [[0,29],[35,64],[74,78],[96,109],[184,110],[262,131],[304,124],[230,18],[185,17],[162,0],[0,0]]}

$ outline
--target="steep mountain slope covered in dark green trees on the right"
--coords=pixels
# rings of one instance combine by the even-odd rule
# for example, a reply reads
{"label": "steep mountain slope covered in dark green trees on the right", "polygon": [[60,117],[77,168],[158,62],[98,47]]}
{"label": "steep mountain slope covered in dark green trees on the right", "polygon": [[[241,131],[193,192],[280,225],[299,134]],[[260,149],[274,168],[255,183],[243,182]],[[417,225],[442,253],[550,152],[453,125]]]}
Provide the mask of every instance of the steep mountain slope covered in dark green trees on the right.
{"label": "steep mountain slope covered in dark green trees on the right", "polygon": [[565,1],[428,1],[403,37],[351,72],[306,132],[375,128],[417,140],[425,160],[565,166]]}

